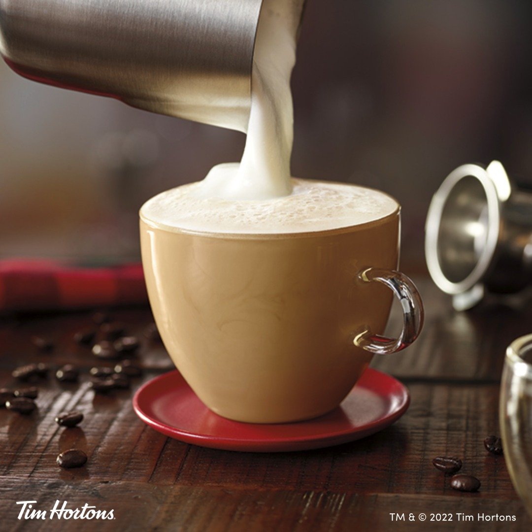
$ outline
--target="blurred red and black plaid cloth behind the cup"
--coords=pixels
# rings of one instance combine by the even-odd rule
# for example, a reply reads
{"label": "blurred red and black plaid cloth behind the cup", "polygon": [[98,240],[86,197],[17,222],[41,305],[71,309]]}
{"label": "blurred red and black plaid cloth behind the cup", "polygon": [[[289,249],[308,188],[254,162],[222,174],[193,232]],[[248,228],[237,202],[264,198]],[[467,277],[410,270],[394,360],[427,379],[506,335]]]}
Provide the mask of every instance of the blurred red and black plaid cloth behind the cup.
{"label": "blurred red and black plaid cloth behind the cup", "polygon": [[48,260],[0,261],[0,311],[81,309],[147,301],[142,264],[72,268]]}

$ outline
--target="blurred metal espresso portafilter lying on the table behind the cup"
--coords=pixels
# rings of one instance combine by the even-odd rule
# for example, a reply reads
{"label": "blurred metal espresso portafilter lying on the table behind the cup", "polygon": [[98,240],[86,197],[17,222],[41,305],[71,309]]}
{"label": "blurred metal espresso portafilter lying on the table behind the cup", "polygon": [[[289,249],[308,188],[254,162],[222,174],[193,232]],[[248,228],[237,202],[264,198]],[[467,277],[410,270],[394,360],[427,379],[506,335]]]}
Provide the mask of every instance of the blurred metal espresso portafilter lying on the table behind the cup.
{"label": "blurred metal espresso portafilter lying on the table behind the cup", "polygon": [[430,203],[425,255],[456,310],[486,293],[519,292],[532,281],[532,193],[514,185],[498,161],[456,168]]}

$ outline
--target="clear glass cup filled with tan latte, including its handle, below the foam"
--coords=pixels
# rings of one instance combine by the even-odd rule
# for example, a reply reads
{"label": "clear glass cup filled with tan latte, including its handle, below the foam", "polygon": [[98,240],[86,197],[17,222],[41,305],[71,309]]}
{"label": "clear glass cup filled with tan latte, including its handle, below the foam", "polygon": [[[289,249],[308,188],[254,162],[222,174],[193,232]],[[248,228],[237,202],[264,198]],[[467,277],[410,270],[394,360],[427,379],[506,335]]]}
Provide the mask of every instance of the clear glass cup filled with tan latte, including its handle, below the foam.
{"label": "clear glass cup filled with tan latte, including its handle, below the foam", "polygon": [[[409,345],[422,304],[397,267],[400,207],[352,227],[274,235],[163,228],[140,211],[149,300],[164,345],[223,417],[310,419],[342,402],[373,354]],[[383,333],[393,295],[404,327]]]}

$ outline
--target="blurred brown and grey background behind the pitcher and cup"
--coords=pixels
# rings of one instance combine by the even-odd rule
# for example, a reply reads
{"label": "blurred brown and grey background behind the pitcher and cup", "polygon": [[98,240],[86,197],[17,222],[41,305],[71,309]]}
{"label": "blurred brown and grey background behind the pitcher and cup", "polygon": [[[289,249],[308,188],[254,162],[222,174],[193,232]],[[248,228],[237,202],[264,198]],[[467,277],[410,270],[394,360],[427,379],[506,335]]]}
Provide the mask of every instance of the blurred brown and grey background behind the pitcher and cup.
{"label": "blurred brown and grey background behind the pitcher and cup", "polygon": [[[307,0],[297,177],[379,188],[423,270],[431,195],[466,162],[532,184],[532,3]],[[0,64],[0,259],[138,260],[137,211],[240,159],[244,135],[36,84]]]}

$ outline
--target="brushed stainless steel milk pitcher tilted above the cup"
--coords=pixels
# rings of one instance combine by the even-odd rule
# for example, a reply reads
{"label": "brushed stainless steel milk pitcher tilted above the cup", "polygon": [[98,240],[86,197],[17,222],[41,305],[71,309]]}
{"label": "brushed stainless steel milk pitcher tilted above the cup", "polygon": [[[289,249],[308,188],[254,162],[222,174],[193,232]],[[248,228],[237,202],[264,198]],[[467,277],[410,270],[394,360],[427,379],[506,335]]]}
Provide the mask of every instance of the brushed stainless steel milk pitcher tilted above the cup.
{"label": "brushed stainless steel milk pitcher tilted above the cup", "polygon": [[244,131],[261,4],[0,0],[0,52],[35,81]]}

